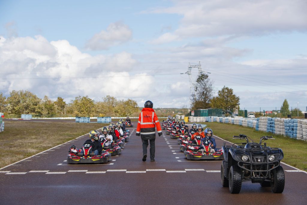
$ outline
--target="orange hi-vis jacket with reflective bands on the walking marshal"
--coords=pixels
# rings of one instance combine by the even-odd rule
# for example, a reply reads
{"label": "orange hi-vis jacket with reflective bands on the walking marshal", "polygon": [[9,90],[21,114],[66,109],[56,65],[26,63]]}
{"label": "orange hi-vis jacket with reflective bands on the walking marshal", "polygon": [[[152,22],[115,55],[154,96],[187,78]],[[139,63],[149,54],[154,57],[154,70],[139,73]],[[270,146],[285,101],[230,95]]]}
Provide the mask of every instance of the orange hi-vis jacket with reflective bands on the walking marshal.
{"label": "orange hi-vis jacket with reflective bands on the walking marshal", "polygon": [[159,136],[162,135],[161,125],[157,114],[153,108],[143,108],[138,117],[138,127],[136,128],[136,135],[140,136],[142,140],[152,140],[156,138],[156,130]]}

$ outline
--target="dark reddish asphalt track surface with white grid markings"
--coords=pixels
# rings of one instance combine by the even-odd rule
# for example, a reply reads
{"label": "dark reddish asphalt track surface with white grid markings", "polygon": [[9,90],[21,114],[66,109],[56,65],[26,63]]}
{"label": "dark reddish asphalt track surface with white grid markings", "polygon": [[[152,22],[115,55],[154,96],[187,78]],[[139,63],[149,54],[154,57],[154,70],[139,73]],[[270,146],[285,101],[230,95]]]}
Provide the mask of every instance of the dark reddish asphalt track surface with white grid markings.
{"label": "dark reddish asphalt track surface with white grid markings", "polygon": [[[130,129],[122,154],[106,164],[67,164],[64,143],[0,170],[0,204],[306,204],[307,173],[287,165],[285,190],[244,182],[239,194],[220,183],[221,161],[190,161],[177,140],[156,138],[155,162],[142,162],[142,141]],[[223,140],[216,138],[217,147]],[[229,144],[229,143],[228,143]],[[149,148],[148,148],[149,154]]]}

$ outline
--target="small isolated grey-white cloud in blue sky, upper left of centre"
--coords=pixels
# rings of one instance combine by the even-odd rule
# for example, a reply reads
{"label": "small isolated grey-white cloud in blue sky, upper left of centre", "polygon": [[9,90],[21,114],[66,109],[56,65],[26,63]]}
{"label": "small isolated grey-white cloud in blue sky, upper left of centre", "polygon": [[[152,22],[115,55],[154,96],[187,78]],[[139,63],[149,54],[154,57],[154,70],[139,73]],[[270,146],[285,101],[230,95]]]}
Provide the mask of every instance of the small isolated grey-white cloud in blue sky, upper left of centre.
{"label": "small isolated grey-white cloud in blue sky, upper left of centre", "polygon": [[106,50],[111,46],[125,43],[132,39],[132,30],[122,22],[111,23],[107,30],[94,34],[87,41],[86,47],[92,50]]}

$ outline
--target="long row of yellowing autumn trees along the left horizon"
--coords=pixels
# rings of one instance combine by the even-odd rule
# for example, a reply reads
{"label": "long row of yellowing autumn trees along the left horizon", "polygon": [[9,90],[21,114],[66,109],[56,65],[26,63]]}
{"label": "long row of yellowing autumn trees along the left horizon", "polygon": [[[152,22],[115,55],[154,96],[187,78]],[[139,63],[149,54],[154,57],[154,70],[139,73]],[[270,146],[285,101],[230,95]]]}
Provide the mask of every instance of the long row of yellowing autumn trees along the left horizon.
{"label": "long row of yellowing autumn trees along the left horizon", "polygon": [[32,114],[33,117],[138,116],[139,107],[134,100],[117,100],[109,95],[103,101],[78,96],[66,103],[62,97],[52,101],[48,96],[40,99],[27,90],[13,90],[7,98],[0,93],[0,112],[9,117],[20,117],[21,114]]}

